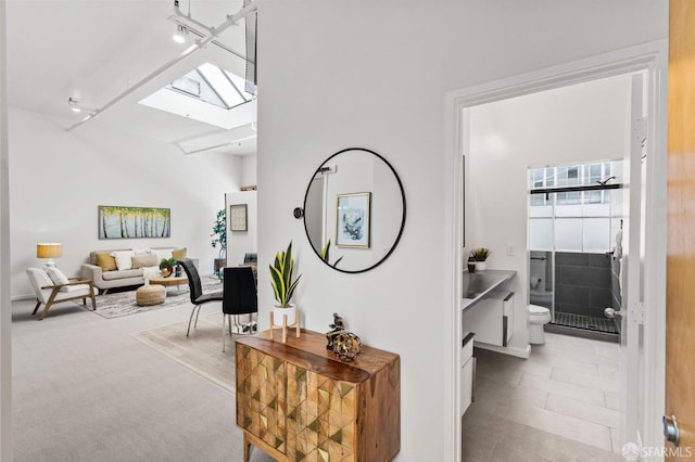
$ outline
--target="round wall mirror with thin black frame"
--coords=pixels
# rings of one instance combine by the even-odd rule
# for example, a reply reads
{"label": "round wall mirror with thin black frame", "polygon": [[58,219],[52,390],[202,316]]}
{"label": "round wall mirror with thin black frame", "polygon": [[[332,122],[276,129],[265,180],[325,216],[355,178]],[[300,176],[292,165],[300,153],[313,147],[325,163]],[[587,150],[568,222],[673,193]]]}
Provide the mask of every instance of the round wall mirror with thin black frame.
{"label": "round wall mirror with thin black frame", "polygon": [[381,264],[399,243],[404,224],[401,179],[372,151],[337,152],[306,188],[306,236],[316,255],[338,271],[363,272]]}

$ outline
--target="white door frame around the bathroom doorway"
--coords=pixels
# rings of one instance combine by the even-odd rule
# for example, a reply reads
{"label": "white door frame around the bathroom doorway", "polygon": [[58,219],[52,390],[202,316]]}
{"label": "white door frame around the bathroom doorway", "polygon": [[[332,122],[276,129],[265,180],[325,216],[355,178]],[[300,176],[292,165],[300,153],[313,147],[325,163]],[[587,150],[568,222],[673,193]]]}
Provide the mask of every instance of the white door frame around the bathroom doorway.
{"label": "white door frame around the bathroom doorway", "polygon": [[[447,214],[445,239],[446,280],[451,331],[447,375],[453,387],[446,400],[450,414],[447,425],[452,440],[454,460],[462,457],[462,420],[458,415],[459,383],[459,338],[463,334],[460,303],[460,270],[464,265],[464,179],[463,146],[466,133],[464,110],[484,103],[520,97],[554,88],[596,80],[620,74],[645,70],[647,87],[647,163],[645,204],[645,260],[644,265],[644,370],[645,402],[642,441],[644,446],[662,446],[661,411],[664,409],[666,375],[666,197],[667,197],[667,73],[668,41],[666,39],[643,43],[586,59],[546,67],[543,69],[485,82],[446,93],[444,114],[444,206]],[[468,207],[467,207],[468,209]]]}

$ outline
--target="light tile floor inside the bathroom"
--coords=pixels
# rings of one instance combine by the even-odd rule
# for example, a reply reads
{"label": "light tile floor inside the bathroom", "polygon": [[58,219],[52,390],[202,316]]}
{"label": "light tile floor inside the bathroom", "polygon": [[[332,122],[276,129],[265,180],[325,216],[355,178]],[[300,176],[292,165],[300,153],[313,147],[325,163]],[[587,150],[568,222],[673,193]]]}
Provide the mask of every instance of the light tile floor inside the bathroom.
{"label": "light tile floor inside the bathroom", "polygon": [[529,359],[476,348],[463,460],[622,461],[620,347],[546,333]]}

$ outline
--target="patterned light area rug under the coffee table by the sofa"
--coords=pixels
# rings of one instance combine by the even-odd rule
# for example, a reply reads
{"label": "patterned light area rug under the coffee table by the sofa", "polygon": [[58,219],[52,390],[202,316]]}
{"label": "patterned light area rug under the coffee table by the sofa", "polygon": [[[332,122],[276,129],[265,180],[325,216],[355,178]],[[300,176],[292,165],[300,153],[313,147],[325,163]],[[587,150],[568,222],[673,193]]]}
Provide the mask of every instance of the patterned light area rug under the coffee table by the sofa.
{"label": "patterned light area rug under the coffee table by the sofa", "polygon": [[[213,278],[202,279],[203,292],[216,292],[222,291],[222,281]],[[97,296],[97,310],[91,310],[91,303],[87,304],[87,308],[103,318],[113,319],[124,316],[137,315],[139,312],[152,311],[161,308],[170,308],[179,306],[191,306],[189,297],[188,284],[179,286],[166,287],[166,299],[163,304],[152,305],[147,307],[140,307],[135,301],[135,291],[137,287],[131,287],[126,291],[109,292],[105,295]],[[76,303],[80,307],[81,300]],[[222,325],[220,325],[222,329]]]}

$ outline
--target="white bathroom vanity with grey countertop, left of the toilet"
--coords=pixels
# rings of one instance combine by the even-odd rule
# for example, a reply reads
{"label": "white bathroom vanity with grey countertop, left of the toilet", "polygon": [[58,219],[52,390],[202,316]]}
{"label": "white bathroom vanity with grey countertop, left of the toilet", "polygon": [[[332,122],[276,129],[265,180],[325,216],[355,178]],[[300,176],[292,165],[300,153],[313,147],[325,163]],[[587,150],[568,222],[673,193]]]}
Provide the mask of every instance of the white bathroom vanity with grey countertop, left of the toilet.
{"label": "white bathroom vanity with grey countertop, left of the toilet", "polygon": [[485,270],[463,274],[460,351],[458,355],[459,411],[471,402],[476,381],[473,342],[478,346],[506,346],[514,331],[514,293],[502,286],[516,271]]}

